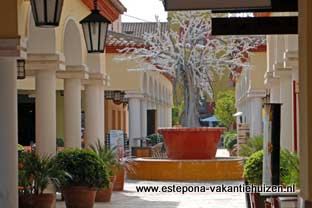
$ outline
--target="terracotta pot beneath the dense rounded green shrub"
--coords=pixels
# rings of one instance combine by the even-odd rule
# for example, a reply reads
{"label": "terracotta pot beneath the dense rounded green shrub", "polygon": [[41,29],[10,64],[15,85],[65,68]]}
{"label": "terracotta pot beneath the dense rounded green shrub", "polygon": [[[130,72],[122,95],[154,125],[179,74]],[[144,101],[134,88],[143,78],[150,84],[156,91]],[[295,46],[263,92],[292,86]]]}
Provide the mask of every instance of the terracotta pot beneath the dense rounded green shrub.
{"label": "terracotta pot beneath the dense rounded green shrub", "polygon": [[93,208],[96,189],[89,187],[67,187],[63,190],[66,208]]}

